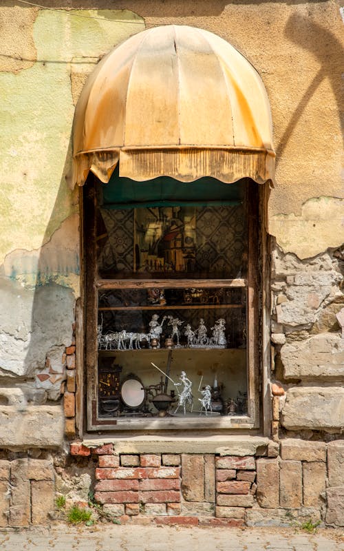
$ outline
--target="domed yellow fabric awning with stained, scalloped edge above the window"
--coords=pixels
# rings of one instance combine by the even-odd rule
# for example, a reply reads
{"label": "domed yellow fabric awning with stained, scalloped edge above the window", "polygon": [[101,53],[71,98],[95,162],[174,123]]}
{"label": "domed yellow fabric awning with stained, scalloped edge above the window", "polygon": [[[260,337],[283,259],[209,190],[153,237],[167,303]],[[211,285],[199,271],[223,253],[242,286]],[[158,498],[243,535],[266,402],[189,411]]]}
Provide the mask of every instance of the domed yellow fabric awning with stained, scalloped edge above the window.
{"label": "domed yellow fabric awning with stained, scalloped edge above the window", "polygon": [[206,30],[168,25],[112,50],[89,76],[74,117],[74,183],[91,170],[225,183],[274,179],[270,105],[257,71]]}

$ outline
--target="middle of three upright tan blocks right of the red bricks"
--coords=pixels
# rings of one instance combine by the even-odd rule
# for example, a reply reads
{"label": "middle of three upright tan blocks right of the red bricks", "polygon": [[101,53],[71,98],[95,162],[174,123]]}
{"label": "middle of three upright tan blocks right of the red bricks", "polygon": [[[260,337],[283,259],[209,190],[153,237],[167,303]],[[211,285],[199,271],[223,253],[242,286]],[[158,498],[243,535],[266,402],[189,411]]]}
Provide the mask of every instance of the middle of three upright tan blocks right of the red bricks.
{"label": "middle of three upright tan blocks right of the red bricks", "polygon": [[279,503],[285,508],[299,508],[302,504],[301,461],[281,461],[279,471]]}

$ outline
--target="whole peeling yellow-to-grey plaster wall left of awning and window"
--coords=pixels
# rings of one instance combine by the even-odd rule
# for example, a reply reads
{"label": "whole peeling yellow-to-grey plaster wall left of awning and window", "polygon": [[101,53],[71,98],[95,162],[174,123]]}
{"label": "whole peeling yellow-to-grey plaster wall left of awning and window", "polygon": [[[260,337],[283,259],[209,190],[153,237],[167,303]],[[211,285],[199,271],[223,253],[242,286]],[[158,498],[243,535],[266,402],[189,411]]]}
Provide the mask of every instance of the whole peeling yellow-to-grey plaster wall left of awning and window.
{"label": "whole peeling yellow-to-grey plaster wall left of awning and window", "polygon": [[63,439],[62,408],[43,404],[61,397],[80,295],[78,190],[68,185],[74,105],[100,57],[144,28],[127,10],[82,15],[98,19],[0,8],[0,404],[8,446]]}

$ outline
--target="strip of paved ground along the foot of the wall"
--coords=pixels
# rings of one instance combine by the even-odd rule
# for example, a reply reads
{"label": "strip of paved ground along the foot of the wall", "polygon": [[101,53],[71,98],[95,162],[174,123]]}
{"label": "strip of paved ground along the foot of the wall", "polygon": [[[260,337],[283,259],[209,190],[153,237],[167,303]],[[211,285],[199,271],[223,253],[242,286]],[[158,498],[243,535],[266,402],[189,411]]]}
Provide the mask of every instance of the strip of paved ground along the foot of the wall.
{"label": "strip of paved ground along the foot of the wall", "polygon": [[1,530],[1,551],[344,551],[344,531],[97,526]]}

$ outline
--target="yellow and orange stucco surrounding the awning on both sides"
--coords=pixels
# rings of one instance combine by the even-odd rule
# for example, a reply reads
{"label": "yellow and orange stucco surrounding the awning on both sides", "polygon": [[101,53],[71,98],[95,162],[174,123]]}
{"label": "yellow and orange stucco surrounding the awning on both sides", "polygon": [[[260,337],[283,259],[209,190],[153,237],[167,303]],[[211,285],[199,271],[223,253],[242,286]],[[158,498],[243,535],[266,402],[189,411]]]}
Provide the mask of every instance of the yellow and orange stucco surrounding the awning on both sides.
{"label": "yellow and orange stucco surrounding the awning on both sides", "polygon": [[[65,8],[58,0],[50,6]],[[39,249],[78,209],[65,177],[74,105],[94,64],[145,25],[171,23],[226,39],[266,85],[277,152],[269,231],[279,245],[303,258],[344,240],[337,200],[343,197],[338,2],[123,0],[123,10],[108,10],[100,0],[98,10],[87,9],[92,6],[83,1],[80,14],[103,21],[14,8],[7,1],[0,8],[6,41],[0,57],[0,124],[6,128],[0,136],[0,265],[14,249]],[[314,237],[314,205],[323,216],[316,226],[321,239]],[[77,248],[76,237],[70,238]]]}

